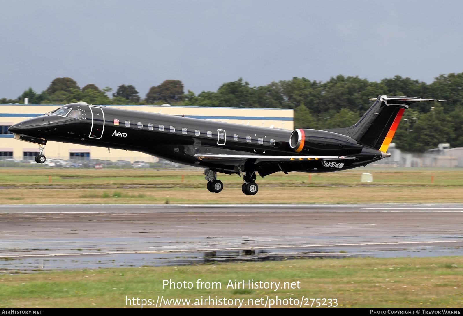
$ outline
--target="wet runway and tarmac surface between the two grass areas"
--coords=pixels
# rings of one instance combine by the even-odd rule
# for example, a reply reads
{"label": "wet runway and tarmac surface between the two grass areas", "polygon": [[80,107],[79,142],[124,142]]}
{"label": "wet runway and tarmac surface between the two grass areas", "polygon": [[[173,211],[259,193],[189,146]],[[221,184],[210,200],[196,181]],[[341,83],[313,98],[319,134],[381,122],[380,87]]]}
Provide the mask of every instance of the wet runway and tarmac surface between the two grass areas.
{"label": "wet runway and tarmac surface between the two grass areas", "polygon": [[462,227],[463,204],[0,205],[0,269],[462,255]]}

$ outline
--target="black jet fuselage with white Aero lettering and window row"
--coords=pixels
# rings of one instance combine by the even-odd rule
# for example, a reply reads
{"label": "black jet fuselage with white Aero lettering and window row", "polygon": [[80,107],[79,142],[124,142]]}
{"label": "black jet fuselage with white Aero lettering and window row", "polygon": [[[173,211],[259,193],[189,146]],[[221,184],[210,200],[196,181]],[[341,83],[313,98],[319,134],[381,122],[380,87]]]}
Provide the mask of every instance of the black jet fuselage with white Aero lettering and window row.
{"label": "black jet fuselage with white Aero lettering and window row", "polygon": [[[47,141],[139,151],[224,173],[238,173],[239,166],[230,161],[203,161],[195,155],[302,156],[294,152],[289,144],[291,130],[80,103],[64,105],[61,109],[25,120],[12,126],[10,131]],[[327,155],[323,148],[314,149],[310,154]],[[330,155],[333,155],[332,149]],[[361,147],[360,152],[349,156],[353,159],[342,161],[342,166],[323,160],[282,161],[263,163],[257,171],[261,175],[277,171],[331,172],[358,167],[382,158],[378,150],[367,147]]]}

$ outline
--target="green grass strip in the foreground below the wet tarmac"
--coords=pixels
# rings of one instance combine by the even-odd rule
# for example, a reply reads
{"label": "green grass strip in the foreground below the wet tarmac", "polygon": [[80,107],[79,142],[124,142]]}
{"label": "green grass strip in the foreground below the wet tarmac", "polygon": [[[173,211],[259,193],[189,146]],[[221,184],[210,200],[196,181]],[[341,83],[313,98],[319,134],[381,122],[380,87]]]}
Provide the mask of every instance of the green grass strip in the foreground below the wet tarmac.
{"label": "green grass strip in the foreground below the wet tarmac", "polygon": [[[163,279],[193,289],[163,288]],[[220,289],[198,289],[219,282]],[[227,288],[229,280],[297,282],[294,289]],[[462,308],[463,258],[348,258],[0,274],[0,307],[125,307],[125,297],[336,298],[339,307]],[[205,286],[205,285],[204,285]],[[304,301],[304,304],[307,301]],[[310,303],[310,301],[309,301]],[[133,307],[133,306],[132,306]],[[140,306],[138,306],[140,307]],[[147,306],[145,306],[147,307]],[[260,306],[259,306],[260,307]]]}

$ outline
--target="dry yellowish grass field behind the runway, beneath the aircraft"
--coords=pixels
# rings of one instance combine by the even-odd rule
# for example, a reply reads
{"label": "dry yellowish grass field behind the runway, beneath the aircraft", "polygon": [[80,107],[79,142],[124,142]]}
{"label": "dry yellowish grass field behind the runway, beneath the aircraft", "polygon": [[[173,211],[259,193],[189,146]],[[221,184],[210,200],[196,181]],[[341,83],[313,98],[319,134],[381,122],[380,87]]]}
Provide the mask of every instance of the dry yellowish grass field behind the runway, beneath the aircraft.
{"label": "dry yellowish grass field behind the runway, beneath the aircraft", "polygon": [[[374,182],[360,182],[366,172]],[[259,192],[248,196],[237,175],[219,174],[224,190],[208,192],[200,169],[1,168],[0,204],[463,202],[461,168],[357,168],[259,178]]]}

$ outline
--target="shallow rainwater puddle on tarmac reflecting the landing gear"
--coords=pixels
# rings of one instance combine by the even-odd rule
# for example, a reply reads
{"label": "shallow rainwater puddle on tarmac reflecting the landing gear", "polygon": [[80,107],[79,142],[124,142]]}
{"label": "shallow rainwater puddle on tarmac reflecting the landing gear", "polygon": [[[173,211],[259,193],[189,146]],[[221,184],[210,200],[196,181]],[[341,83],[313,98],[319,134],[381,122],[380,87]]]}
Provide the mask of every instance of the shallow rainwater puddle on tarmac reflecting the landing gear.
{"label": "shallow rainwater puddle on tarmac reflecting the landing gear", "polygon": [[317,251],[307,249],[240,250],[209,252],[177,252],[159,254],[92,254],[11,258],[0,260],[1,271],[50,271],[68,269],[96,269],[140,266],[183,266],[201,263],[281,261],[299,258],[346,258],[346,257],[430,257],[463,255],[461,247],[417,247],[407,249],[326,248]]}

